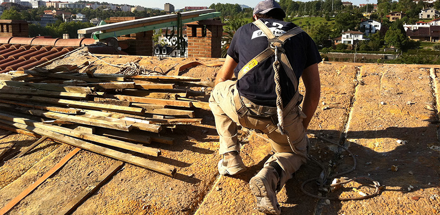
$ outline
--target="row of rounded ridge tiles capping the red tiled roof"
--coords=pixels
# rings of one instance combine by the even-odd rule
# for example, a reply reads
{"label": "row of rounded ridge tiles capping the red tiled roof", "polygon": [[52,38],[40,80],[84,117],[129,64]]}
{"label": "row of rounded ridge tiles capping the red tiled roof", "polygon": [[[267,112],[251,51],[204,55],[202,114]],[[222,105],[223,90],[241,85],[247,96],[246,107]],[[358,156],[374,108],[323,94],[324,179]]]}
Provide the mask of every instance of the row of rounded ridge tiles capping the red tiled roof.
{"label": "row of rounded ridge tiles capping the red tiled roof", "polygon": [[22,38],[22,37],[0,37],[3,44],[22,44],[22,45],[44,45],[44,46],[63,46],[80,47],[95,43],[95,39],[61,39],[61,38]]}

